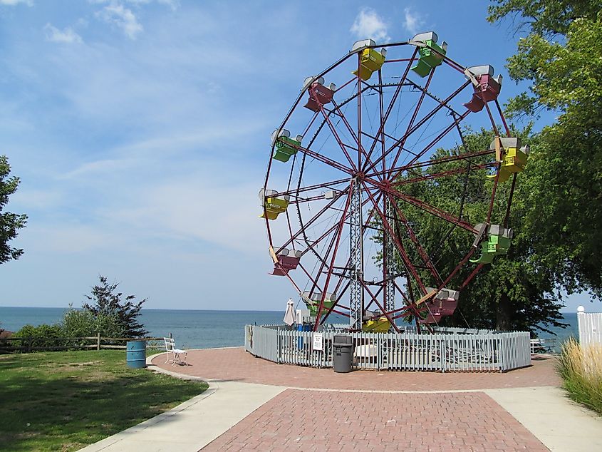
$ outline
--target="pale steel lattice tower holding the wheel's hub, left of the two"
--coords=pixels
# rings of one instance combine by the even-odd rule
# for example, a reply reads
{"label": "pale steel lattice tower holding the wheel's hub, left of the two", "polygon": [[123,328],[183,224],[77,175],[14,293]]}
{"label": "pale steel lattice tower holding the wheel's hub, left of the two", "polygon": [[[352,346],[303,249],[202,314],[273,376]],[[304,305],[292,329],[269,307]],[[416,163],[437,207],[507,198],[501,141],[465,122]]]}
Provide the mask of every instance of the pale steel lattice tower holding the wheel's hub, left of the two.
{"label": "pale steel lattice tower holding the wheel's hub, left of the two", "polygon": [[349,267],[351,269],[349,326],[351,329],[362,328],[364,306],[363,291],[363,219],[362,219],[362,189],[358,178],[353,180],[351,189],[351,204],[349,206]]}

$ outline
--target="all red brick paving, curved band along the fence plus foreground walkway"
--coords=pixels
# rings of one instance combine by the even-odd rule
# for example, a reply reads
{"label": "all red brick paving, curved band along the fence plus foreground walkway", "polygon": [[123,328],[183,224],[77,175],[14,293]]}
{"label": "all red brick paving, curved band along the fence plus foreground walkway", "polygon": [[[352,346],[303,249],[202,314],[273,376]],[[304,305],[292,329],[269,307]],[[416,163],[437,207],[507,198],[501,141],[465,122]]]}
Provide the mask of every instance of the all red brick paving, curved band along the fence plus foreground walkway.
{"label": "all red brick paving, curved band along the fence plus foreground walkway", "polygon": [[274,364],[242,348],[189,351],[190,366],[172,367],[164,359],[157,356],[153,364],[214,381],[289,388],[203,451],[546,451],[482,390],[560,384],[552,358],[505,374],[336,374]]}

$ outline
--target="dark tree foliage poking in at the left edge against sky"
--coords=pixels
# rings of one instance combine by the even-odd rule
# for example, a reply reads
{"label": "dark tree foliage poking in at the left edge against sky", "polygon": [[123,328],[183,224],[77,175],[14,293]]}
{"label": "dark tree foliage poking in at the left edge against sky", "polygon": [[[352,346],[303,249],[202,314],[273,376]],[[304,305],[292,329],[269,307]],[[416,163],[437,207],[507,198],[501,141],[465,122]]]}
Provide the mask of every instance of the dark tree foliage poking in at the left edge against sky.
{"label": "dark tree foliage poking in at the left edge against sky", "polygon": [[19,259],[23,250],[9,246],[9,241],[17,236],[17,231],[25,227],[27,215],[2,212],[9,202],[9,196],[19,187],[19,178],[12,176],[11,167],[6,155],[0,155],[0,264],[13,259]]}

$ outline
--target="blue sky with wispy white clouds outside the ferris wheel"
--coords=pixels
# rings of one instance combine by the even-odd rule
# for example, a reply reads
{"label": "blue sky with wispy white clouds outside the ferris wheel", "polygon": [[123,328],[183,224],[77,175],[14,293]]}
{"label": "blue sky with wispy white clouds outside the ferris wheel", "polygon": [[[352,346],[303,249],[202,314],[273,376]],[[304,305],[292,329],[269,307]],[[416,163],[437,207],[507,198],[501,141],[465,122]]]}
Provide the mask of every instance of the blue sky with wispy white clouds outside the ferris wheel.
{"label": "blue sky with wispy white clouds outside the ferris wheel", "polygon": [[430,30],[505,75],[518,37],[487,2],[426,5],[0,0],[0,153],[29,216],[0,305],[78,306],[103,274],[149,308],[284,309],[256,193],[303,79]]}

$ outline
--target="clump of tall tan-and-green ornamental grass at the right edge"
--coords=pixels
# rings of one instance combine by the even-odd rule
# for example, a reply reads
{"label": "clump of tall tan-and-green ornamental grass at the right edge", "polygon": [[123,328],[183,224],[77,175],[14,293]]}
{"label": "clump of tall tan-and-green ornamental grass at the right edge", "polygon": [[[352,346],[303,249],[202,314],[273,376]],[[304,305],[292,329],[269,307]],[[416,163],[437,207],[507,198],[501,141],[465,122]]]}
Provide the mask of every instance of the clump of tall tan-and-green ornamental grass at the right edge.
{"label": "clump of tall tan-and-green ornamental grass at the right edge", "polygon": [[571,399],[602,414],[602,344],[581,346],[569,339],[562,346],[558,370]]}

